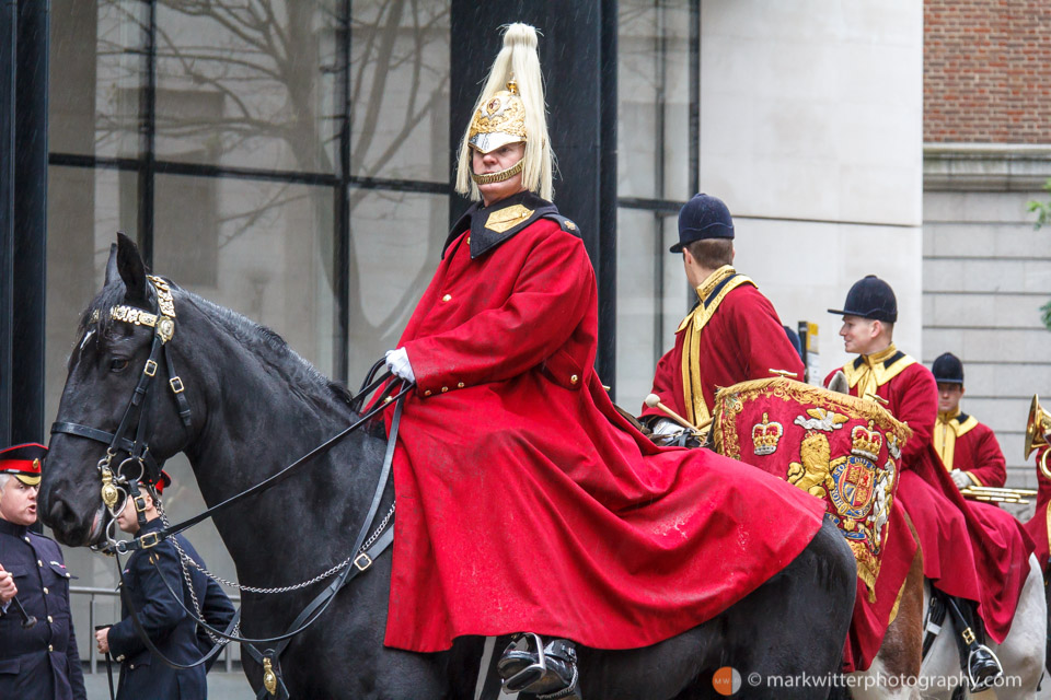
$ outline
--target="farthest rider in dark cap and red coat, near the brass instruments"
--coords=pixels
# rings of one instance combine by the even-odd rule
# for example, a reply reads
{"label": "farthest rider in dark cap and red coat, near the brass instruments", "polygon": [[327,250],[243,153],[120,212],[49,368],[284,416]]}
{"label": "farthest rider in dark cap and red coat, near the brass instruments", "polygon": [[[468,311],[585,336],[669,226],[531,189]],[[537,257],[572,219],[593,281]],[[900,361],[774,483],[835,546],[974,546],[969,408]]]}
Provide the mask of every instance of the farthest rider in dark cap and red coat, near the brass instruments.
{"label": "farthest rider in dark cap and red coat, near the brass instruments", "polygon": [[934,427],[934,450],[957,488],[1003,487],[1007,481],[1004,453],[996,435],[973,416],[960,411],[963,396],[963,363],[951,352],[943,353],[931,366],[938,383],[938,420]]}

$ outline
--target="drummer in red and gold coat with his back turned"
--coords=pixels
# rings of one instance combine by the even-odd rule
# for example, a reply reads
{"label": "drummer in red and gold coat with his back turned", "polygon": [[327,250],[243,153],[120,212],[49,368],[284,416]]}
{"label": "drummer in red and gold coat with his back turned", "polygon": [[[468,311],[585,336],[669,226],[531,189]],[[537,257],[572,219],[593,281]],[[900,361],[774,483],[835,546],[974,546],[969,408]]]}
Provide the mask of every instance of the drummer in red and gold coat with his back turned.
{"label": "drummer in red and gold coat with his back turned", "polygon": [[[802,361],[774,305],[732,267],[734,220],[723,201],[701,194],[686,202],[671,252],[682,253],[697,303],[679,325],[675,346],[657,363],[652,393],[665,406],[697,425],[712,416],[719,387],[769,377],[771,370],[804,380]],[[643,416],[655,428],[667,419],[654,407],[644,407]]]}

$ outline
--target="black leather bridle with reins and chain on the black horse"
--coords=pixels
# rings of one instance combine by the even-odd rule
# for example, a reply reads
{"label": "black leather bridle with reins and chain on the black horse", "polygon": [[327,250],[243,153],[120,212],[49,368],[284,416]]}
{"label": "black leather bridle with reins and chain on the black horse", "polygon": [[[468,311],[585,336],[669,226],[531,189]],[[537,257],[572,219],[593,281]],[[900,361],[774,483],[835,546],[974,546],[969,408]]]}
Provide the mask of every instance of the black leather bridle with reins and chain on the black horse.
{"label": "black leather bridle with reins and chain on the black horse", "polygon": [[[376,521],[378,514],[380,502],[382,501],[383,493],[386,490],[386,486],[390,482],[391,478],[391,467],[393,464],[394,447],[397,442],[397,427],[401,421],[402,407],[404,404],[405,395],[415,387],[415,383],[404,382],[395,394],[390,394],[390,386],[384,386],[392,380],[390,372],[384,372],[381,376],[373,380],[377,371],[383,364],[383,360],[378,361],[372,365],[372,369],[369,371],[369,374],[366,376],[365,382],[362,383],[361,389],[358,395],[351,399],[350,406],[351,409],[358,411],[362,408],[362,402],[366,397],[368,397],[377,388],[383,386],[384,392],[388,393],[388,396],[383,400],[376,400],[372,408],[368,410],[365,415],[360,416],[357,421],[351,425],[337,433],[336,435],[328,439],[326,442],[317,445],[305,455],[293,462],[292,464],[284,467],[277,474],[269,476],[259,483],[256,483],[253,487],[241,491],[240,493],[218,503],[203,513],[199,513],[190,518],[187,518],[175,525],[170,525],[164,520],[164,527],[161,529],[152,530],[146,533],[141,537],[132,541],[127,540],[117,540],[111,535],[111,529],[116,524],[116,517],[119,514],[119,511],[115,512],[115,506],[119,500],[122,492],[125,492],[126,498],[132,499],[135,503],[137,517],[139,521],[139,526],[142,527],[146,524],[146,502],[141,497],[138,485],[139,482],[147,483],[152,488],[162,477],[161,477],[161,466],[162,463],[158,463],[153,456],[150,454],[149,450],[149,439],[151,433],[149,430],[150,425],[150,412],[147,410],[147,402],[151,395],[151,388],[153,386],[152,380],[157,375],[157,369],[159,361],[163,359],[164,363],[168,365],[169,372],[169,386],[172,389],[172,393],[175,395],[176,401],[178,402],[178,415],[183,421],[183,424],[186,428],[190,427],[190,409],[189,401],[184,396],[185,385],[182,378],[176,374],[174,363],[172,362],[171,353],[168,352],[168,342],[175,335],[175,305],[172,299],[171,288],[169,283],[155,276],[149,276],[147,278],[150,281],[152,289],[155,291],[157,302],[158,302],[158,313],[151,313],[137,308],[134,306],[119,305],[114,306],[109,310],[109,319],[115,322],[128,323],[136,326],[148,326],[154,329],[152,347],[150,349],[150,357],[146,361],[146,364],[142,370],[142,374],[139,377],[139,381],[135,387],[135,392],[131,395],[128,406],[125,409],[124,416],[120,419],[120,423],[117,427],[117,430],[113,433],[108,433],[104,430],[97,428],[92,428],[90,425],[83,425],[80,423],[73,422],[55,422],[51,424],[51,433],[66,433],[70,435],[76,435],[78,438],[84,438],[88,440],[94,440],[106,444],[106,455],[99,460],[97,469],[101,480],[101,495],[103,503],[106,509],[109,511],[109,514],[113,516],[109,524],[107,525],[106,539],[107,545],[102,548],[102,551],[107,555],[113,555],[117,563],[117,575],[120,580],[120,591],[122,597],[124,598],[125,604],[127,604],[131,615],[132,626],[135,627],[136,632],[139,638],[142,640],[147,649],[158,658],[161,660],[165,665],[173,668],[190,668],[198,666],[200,664],[207,663],[215,654],[218,653],[218,650],[221,649],[221,645],[217,644],[211,651],[205,654],[200,660],[193,664],[180,664],[168,658],[160,650],[157,649],[153,641],[149,638],[146,630],[142,627],[140,620],[139,611],[136,609],[135,604],[130,600],[128,596],[125,596],[127,586],[125,585],[124,580],[124,569],[120,565],[119,555],[126,552],[135,552],[140,549],[150,549],[158,546],[162,541],[174,538],[175,535],[182,533],[189,527],[205,521],[217,512],[224,510],[234,503],[246,499],[256,493],[265,491],[280,481],[292,476],[296,471],[302,468],[304,465],[309,464],[314,457],[317,457],[322,454],[327,453],[332,447],[336,445],[340,440],[346,438],[353,431],[359,429],[361,425],[366,424],[379,412],[384,410],[388,407],[388,404],[394,402],[394,416],[391,423],[391,429],[388,438],[386,453],[383,459],[383,466],[380,470],[380,477],[376,487],[376,491],[372,495],[372,502],[369,506],[368,515],[365,518],[360,529],[358,530],[357,537],[355,539],[354,548],[350,550],[351,556],[347,558],[342,564],[330,569],[325,574],[321,576],[314,576],[304,584],[298,584],[294,586],[286,586],[282,588],[275,590],[258,590],[264,593],[280,593],[286,591],[299,590],[302,585],[308,583],[313,583],[320,581],[328,575],[338,573],[333,581],[322,591],[317,596],[307,605],[307,607],[299,614],[299,616],[292,621],[289,626],[288,631],[284,634],[270,638],[261,638],[261,639],[250,639],[236,634],[239,628],[238,620],[240,618],[241,611],[238,610],[233,620],[230,622],[226,630],[216,629],[207,623],[206,620],[201,619],[200,610],[196,605],[197,615],[193,610],[188,609],[181,596],[178,596],[172,585],[164,579],[160,569],[157,568],[157,562],[153,562],[154,568],[157,568],[158,574],[161,576],[164,582],[165,587],[176,599],[178,605],[189,616],[197,625],[204,628],[210,635],[215,638],[221,638],[224,642],[236,641],[244,644],[244,649],[250,653],[250,655],[259,663],[264,669],[263,676],[263,689],[259,691],[258,697],[265,698],[266,695],[279,696],[282,699],[287,699],[288,689],[285,687],[282,679],[280,678],[280,667],[278,665],[278,657],[281,652],[285,651],[288,643],[291,639],[302,632],[304,629],[313,625],[321,615],[332,604],[332,600],[335,598],[335,594],[346,585],[351,579],[358,574],[367,571],[371,565],[373,560],[381,555],[394,540],[394,529],[393,527],[388,527],[388,524],[393,514],[393,506],[391,512],[382,520],[379,527],[372,532],[371,537],[369,536],[370,530],[372,530],[372,524]],[[97,314],[97,312],[96,312]],[[92,318],[92,322],[97,322],[97,316]],[[163,357],[162,357],[163,355]],[[127,435],[131,430],[131,424],[135,419],[138,418],[138,424],[135,431],[135,439],[131,440]],[[119,462],[116,469],[112,467],[114,459],[118,454],[127,454],[127,458]],[[128,465],[138,466],[138,474],[125,474],[125,467]],[[366,538],[368,537],[368,541]],[[180,561],[183,567],[184,574],[186,572],[186,563],[184,559],[186,558],[183,553],[182,548],[178,546],[177,540],[173,539],[176,550],[180,552]],[[353,564],[353,565],[351,565]],[[207,571],[201,569],[196,564],[200,571],[206,575],[209,574]],[[192,583],[188,581],[187,585],[192,586]],[[215,578],[212,575],[212,578]],[[178,584],[176,584],[178,585]],[[263,649],[262,651],[257,649],[257,645],[262,644],[272,644],[273,646]]]}

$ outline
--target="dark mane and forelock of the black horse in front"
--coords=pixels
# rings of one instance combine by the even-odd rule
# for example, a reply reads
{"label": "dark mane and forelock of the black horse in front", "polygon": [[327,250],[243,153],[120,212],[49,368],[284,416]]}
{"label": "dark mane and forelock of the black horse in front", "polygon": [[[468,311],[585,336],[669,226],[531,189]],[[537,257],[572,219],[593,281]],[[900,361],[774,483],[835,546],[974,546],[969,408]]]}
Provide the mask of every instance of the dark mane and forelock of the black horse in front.
{"label": "dark mane and forelock of the black horse in front", "polygon": [[[182,289],[171,281],[169,281],[169,284],[172,293],[176,295],[176,314],[178,313],[177,304],[180,301],[192,303],[219,322],[241,345],[253,351],[267,364],[279,370],[285,376],[303,382],[319,392],[327,392],[342,402],[350,402],[353,396],[343,384],[333,382],[319,372],[314,365],[292,350],[285,339],[274,330],[235,311]],[[155,308],[157,292],[152,285],[148,285],[148,289],[151,306]],[[81,315],[78,336],[83,337],[89,330],[95,330],[100,337],[105,336],[113,323],[109,318],[109,310],[123,304],[125,294],[126,288],[123,280],[118,279],[105,285]]]}

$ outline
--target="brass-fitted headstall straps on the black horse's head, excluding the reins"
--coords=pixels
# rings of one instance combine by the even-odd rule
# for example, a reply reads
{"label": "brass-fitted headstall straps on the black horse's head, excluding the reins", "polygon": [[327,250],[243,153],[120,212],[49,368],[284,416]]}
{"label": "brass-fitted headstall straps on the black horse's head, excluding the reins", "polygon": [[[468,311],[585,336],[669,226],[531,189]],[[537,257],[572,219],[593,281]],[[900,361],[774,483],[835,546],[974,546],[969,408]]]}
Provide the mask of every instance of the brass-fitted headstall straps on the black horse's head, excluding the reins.
{"label": "brass-fitted headstall straps on the black horse's head, excluding the reins", "polygon": [[[147,399],[153,388],[153,377],[157,375],[159,361],[162,360],[168,365],[168,381],[178,402],[178,417],[186,428],[190,425],[189,401],[184,395],[185,386],[182,378],[175,373],[175,364],[172,355],[168,352],[168,341],[175,336],[175,302],[172,299],[172,290],[160,277],[150,275],[147,278],[157,295],[157,312],[150,313],[135,306],[113,306],[109,310],[109,319],[131,324],[134,326],[147,326],[153,328],[153,345],[150,348],[150,357],[142,368],[142,374],[131,394],[128,407],[124,411],[120,424],[117,430],[107,433],[97,428],[82,425],[80,423],[55,422],[51,423],[51,434],[66,433],[86,438],[101,442],[106,446],[106,456],[99,460],[99,477],[102,480],[102,502],[109,510],[114,520],[118,513],[114,512],[122,491],[130,495],[135,501],[135,509],[138,515],[139,525],[146,524],[146,502],[142,500],[138,483],[145,482],[154,486],[161,479],[162,463],[158,463],[150,454],[149,439],[150,412],[146,410]],[[99,312],[95,312],[92,322],[97,322]],[[138,425],[135,431],[135,439],[128,438],[131,424],[138,419]],[[118,454],[127,454],[127,458],[113,468],[113,460]],[[135,474],[135,466],[139,467],[138,474]],[[127,472],[126,472],[127,470]],[[113,521],[111,521],[112,523]],[[112,538],[111,538],[112,539]]]}

